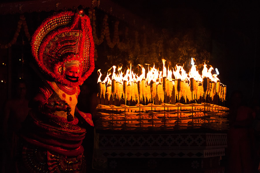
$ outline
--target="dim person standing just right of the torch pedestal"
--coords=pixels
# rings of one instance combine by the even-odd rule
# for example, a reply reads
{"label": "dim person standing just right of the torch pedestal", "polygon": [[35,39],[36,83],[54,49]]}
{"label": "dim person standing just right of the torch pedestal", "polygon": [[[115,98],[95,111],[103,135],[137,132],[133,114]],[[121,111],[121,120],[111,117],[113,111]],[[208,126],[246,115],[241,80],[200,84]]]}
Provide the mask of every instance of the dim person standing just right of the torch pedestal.
{"label": "dim person standing just right of the torch pedestal", "polygon": [[235,91],[231,96],[228,132],[228,170],[235,173],[253,172],[254,137],[253,111],[246,106],[243,95]]}

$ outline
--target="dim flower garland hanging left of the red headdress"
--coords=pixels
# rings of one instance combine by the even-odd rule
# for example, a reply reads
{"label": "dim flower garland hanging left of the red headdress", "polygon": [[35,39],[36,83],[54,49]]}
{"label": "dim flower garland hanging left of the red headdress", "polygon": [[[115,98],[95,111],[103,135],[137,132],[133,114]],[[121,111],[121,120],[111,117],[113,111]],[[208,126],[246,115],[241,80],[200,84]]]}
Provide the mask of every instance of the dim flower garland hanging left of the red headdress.
{"label": "dim flower garland hanging left of the red headdress", "polygon": [[3,44],[3,45],[0,44],[2,49],[3,49],[3,48],[4,48],[4,49],[9,48],[9,47],[11,47],[14,43],[16,43],[17,37],[18,37],[18,35],[19,35],[20,31],[21,31],[22,25],[23,25],[23,28],[24,28],[25,36],[27,37],[28,40],[31,39],[31,36],[30,36],[30,34],[29,34],[29,32],[28,32],[27,24],[26,24],[26,21],[25,21],[25,17],[24,17],[24,15],[22,14],[22,15],[20,15],[20,20],[18,21],[18,25],[17,25],[17,27],[16,27],[16,31],[15,31],[15,33],[14,33],[14,37],[13,37],[12,41],[10,41],[10,42],[7,43],[7,44]]}

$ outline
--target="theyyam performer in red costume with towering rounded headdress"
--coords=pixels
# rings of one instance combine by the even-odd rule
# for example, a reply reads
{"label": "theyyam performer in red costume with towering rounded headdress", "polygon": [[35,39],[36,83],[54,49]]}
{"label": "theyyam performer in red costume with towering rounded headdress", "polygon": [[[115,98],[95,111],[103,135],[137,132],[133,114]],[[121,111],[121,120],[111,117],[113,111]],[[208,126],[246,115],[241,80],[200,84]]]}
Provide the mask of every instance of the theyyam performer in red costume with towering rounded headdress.
{"label": "theyyam performer in red costume with towering rounded headdress", "polygon": [[24,123],[20,172],[86,172],[82,140],[94,126],[91,114],[77,109],[79,85],[94,70],[94,42],[84,11],[57,13],[33,35],[32,53],[52,80],[40,87]]}

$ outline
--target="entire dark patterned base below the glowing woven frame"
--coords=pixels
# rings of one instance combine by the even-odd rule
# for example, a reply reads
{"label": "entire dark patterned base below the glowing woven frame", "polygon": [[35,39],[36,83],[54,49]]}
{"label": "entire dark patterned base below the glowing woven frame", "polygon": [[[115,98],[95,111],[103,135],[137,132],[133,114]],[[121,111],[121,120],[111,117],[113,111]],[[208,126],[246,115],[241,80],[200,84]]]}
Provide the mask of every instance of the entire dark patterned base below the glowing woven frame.
{"label": "entire dark patterned base below the glowing woven frame", "polygon": [[[165,168],[176,172],[175,167],[186,168],[189,172],[222,173],[220,158],[225,155],[227,135],[225,133],[174,133],[174,134],[99,134],[99,156],[96,164],[115,172],[138,169]],[[181,158],[181,159],[180,159]],[[137,160],[137,161],[136,161]],[[136,161],[136,162],[135,162]],[[167,168],[167,166],[175,167]],[[125,169],[126,168],[126,169]],[[214,169],[213,169],[214,168]],[[164,170],[165,170],[164,169]],[[198,170],[200,169],[200,170]],[[156,172],[165,172],[158,170]],[[130,170],[129,170],[130,171]],[[115,173],[114,172],[114,173]],[[131,172],[131,171],[130,171]],[[147,171],[146,171],[147,172]],[[186,170],[187,172],[187,170]]]}

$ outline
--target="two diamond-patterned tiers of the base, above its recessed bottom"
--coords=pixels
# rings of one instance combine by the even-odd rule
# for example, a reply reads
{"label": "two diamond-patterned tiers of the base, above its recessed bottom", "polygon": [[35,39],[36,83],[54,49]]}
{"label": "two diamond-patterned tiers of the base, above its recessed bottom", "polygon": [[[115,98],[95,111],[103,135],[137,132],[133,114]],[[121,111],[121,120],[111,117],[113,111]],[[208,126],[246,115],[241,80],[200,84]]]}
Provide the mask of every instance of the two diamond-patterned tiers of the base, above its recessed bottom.
{"label": "two diamond-patterned tiers of the base, above its recessed bottom", "polygon": [[223,156],[224,133],[99,134],[107,158],[207,158]]}

